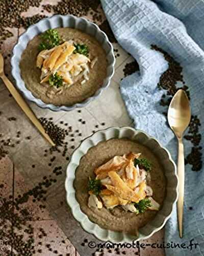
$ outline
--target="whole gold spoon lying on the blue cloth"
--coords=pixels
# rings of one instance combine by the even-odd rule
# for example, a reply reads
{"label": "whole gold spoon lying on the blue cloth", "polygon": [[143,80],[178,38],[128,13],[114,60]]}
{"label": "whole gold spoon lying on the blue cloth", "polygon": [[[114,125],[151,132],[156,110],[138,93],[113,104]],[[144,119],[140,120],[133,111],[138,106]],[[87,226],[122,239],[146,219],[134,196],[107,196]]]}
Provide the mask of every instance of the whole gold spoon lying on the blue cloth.
{"label": "whole gold spoon lying on the blue cloth", "polygon": [[183,211],[184,211],[184,144],[183,134],[191,120],[191,107],[188,97],[183,90],[179,90],[173,96],[168,109],[168,122],[174,132],[178,144],[177,175],[179,177],[179,199],[177,201],[177,218],[179,223],[180,238],[183,237]]}

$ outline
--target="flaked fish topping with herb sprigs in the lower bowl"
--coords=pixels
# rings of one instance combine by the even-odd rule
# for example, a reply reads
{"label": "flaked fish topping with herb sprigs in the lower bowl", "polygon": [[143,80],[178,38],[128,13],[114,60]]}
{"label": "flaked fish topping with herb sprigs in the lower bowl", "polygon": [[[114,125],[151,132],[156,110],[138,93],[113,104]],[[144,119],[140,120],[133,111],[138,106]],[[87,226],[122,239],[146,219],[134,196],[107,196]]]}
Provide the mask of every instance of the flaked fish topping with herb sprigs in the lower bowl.
{"label": "flaked fish topping with herb sprigs in the lower bowl", "polygon": [[152,188],[147,185],[151,163],[140,156],[132,152],[115,156],[96,168],[96,177],[88,181],[88,206],[98,209],[119,206],[135,214],[159,210],[159,203],[152,198]]}

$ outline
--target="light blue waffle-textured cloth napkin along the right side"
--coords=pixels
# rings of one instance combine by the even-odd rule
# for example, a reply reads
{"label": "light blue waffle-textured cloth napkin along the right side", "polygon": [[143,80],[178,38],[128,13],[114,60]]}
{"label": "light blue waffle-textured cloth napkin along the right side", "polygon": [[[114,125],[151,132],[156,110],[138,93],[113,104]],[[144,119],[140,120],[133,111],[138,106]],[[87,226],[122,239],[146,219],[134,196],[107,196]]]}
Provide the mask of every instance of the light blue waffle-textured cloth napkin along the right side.
{"label": "light blue waffle-textured cloth napkin along the right side", "polygon": [[[199,138],[197,143],[194,142],[196,146],[193,152],[197,151],[204,136],[204,2],[101,0],[101,3],[118,43],[139,64],[140,71],[122,79],[120,83],[122,98],[127,112],[135,121],[135,127],[155,136],[168,148],[176,161],[177,142],[167,124],[167,117],[163,114],[164,111],[167,112],[168,106],[160,104],[162,95],[166,95],[167,90],[159,90],[157,86],[169,65],[162,53],[150,47],[157,45],[183,67],[183,77],[190,92],[192,115],[197,115],[201,124],[197,125],[198,131],[195,131]],[[179,70],[179,66],[176,70]],[[181,84],[177,84],[177,88],[179,87]],[[196,122],[199,123],[198,120]],[[184,139],[184,145],[185,156],[188,156],[193,144]],[[198,152],[202,154],[201,147]],[[191,159],[195,161],[198,154],[191,154]],[[203,156],[200,156],[200,160],[203,160]],[[197,166],[199,167],[199,160]],[[183,239],[179,237],[175,205],[165,226],[166,243],[185,243],[188,246],[189,241],[194,239],[192,243],[199,246],[192,247],[192,250],[190,247],[166,249],[167,255],[204,255],[203,181],[203,168],[193,172],[192,165],[186,164]]]}

